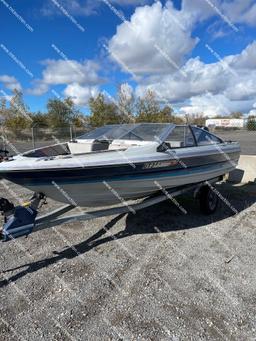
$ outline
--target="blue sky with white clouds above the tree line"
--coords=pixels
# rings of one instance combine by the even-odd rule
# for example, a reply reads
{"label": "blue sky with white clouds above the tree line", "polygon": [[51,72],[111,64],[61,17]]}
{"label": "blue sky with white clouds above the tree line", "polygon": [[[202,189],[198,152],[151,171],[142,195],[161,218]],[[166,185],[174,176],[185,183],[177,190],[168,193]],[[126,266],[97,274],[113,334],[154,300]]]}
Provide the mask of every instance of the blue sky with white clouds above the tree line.
{"label": "blue sky with white clouds above the tree line", "polygon": [[177,113],[256,114],[255,0],[0,0],[0,96],[153,90]]}

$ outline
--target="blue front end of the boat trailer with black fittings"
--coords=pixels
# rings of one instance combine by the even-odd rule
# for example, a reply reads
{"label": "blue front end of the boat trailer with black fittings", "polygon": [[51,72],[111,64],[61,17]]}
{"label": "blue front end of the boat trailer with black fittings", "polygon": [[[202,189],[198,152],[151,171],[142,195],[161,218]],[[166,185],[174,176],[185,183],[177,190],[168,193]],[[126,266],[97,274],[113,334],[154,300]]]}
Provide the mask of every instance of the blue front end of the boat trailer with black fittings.
{"label": "blue front end of the boat trailer with black fittings", "polygon": [[0,198],[0,212],[4,216],[0,239],[8,241],[21,236],[28,236],[34,228],[38,208],[42,200],[45,201],[44,194],[35,193],[30,202],[15,207],[7,199]]}

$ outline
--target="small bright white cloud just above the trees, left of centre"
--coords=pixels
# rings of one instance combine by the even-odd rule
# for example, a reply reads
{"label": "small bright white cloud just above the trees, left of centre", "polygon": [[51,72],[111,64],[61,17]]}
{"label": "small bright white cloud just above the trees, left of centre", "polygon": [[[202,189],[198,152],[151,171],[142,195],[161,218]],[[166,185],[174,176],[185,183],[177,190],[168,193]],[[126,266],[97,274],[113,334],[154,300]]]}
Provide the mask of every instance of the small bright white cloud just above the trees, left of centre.
{"label": "small bright white cloud just above the trees, left of centre", "polygon": [[99,93],[97,86],[82,86],[78,83],[69,84],[64,90],[67,97],[71,97],[76,105],[84,106],[88,103],[90,97]]}

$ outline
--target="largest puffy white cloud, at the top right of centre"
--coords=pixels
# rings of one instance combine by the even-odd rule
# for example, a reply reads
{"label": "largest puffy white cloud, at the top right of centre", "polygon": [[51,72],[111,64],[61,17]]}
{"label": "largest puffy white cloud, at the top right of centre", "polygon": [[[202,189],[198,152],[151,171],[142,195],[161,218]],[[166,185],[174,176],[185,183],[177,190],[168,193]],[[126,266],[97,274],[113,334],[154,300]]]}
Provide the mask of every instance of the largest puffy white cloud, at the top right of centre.
{"label": "largest puffy white cloud, at the top right of centre", "polygon": [[175,71],[197,42],[181,19],[169,1],[136,8],[109,41],[110,55],[134,74]]}

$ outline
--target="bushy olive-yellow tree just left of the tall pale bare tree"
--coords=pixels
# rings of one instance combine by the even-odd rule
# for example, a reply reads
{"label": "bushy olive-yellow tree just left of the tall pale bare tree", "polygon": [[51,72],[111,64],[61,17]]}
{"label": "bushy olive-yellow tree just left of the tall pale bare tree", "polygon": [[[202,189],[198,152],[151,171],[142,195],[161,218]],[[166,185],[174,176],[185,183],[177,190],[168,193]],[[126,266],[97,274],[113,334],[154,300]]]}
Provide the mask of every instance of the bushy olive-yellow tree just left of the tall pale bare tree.
{"label": "bushy olive-yellow tree just left of the tall pale bare tree", "polygon": [[91,110],[90,124],[93,127],[122,123],[116,104],[107,102],[103,94],[90,98],[89,106]]}

